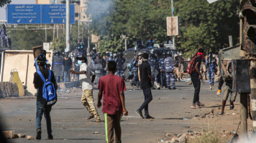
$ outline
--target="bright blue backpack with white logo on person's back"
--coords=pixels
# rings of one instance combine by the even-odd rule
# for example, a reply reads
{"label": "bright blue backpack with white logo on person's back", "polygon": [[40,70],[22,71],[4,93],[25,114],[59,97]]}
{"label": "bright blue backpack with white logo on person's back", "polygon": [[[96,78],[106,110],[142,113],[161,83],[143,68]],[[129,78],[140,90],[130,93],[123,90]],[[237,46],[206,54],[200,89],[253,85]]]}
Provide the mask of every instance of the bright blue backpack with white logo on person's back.
{"label": "bright blue backpack with white logo on person's back", "polygon": [[49,77],[48,80],[45,80],[45,77],[42,75],[42,72],[40,70],[37,70],[37,73],[40,75],[42,81],[44,82],[44,85],[42,87],[42,98],[45,100],[46,106],[52,106],[57,102],[57,93],[56,89],[54,87],[54,84],[50,82],[50,77],[52,76],[52,72],[49,69]]}

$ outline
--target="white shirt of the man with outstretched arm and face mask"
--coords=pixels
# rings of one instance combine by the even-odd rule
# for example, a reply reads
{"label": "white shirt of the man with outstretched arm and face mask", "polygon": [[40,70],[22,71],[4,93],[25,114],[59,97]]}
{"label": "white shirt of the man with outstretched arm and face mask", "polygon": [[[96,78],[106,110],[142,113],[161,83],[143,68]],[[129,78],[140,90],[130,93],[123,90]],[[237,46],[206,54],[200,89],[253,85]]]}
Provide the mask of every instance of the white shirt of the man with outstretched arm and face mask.
{"label": "white shirt of the man with outstretched arm and face mask", "polygon": [[86,74],[79,75],[79,81],[82,84],[83,91],[86,89],[93,89],[93,83],[91,82],[91,76],[93,76],[93,72],[91,68],[87,66],[86,63],[81,64],[80,71],[86,71]]}

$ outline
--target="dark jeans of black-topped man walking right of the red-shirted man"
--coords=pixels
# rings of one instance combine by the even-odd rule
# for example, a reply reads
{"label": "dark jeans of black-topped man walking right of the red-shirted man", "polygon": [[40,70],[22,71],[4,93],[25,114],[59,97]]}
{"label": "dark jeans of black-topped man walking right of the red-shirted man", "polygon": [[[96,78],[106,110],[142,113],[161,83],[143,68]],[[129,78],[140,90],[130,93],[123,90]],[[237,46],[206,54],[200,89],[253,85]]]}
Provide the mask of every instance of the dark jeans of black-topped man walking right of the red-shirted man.
{"label": "dark jeans of black-topped man walking right of the red-shirted man", "polygon": [[145,109],[145,117],[149,115],[148,113],[148,104],[152,101],[152,94],[151,89],[143,89],[144,94],[144,103],[140,106],[139,110],[142,111],[142,109]]}

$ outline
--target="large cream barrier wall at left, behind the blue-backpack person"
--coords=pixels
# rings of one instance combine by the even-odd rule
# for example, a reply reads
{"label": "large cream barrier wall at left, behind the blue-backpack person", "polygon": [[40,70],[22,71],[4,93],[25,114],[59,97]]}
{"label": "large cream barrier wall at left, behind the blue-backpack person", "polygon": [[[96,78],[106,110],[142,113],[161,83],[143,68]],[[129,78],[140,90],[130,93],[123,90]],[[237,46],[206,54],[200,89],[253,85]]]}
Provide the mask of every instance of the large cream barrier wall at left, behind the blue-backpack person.
{"label": "large cream barrier wall at left, behind the blue-backpack person", "polygon": [[[47,51],[47,60],[52,64],[52,51]],[[19,72],[19,79],[23,85],[27,85],[27,91],[35,94],[33,79],[35,73],[35,59],[32,50],[6,50],[1,57],[1,81],[9,82],[11,71],[16,69]]]}

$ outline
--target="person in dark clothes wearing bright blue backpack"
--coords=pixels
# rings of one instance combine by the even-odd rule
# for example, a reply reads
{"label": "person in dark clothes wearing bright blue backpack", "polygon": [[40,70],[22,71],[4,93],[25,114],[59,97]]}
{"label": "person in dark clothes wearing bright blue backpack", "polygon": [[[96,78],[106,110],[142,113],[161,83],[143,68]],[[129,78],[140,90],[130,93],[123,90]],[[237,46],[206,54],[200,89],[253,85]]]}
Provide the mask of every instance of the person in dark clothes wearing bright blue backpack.
{"label": "person in dark clothes wearing bright blue backpack", "polygon": [[53,139],[50,111],[52,105],[57,102],[56,90],[58,85],[55,81],[54,73],[50,69],[45,68],[46,61],[44,54],[37,56],[39,70],[35,72],[33,81],[34,87],[37,89],[36,139],[41,139],[42,114],[44,114],[47,124],[48,139]]}

